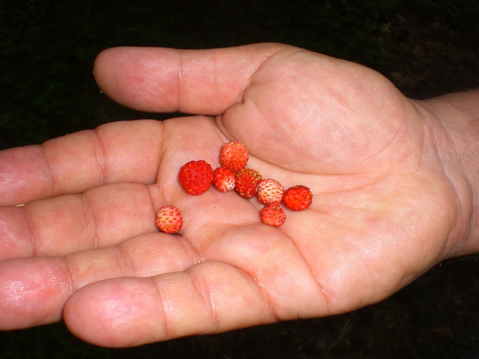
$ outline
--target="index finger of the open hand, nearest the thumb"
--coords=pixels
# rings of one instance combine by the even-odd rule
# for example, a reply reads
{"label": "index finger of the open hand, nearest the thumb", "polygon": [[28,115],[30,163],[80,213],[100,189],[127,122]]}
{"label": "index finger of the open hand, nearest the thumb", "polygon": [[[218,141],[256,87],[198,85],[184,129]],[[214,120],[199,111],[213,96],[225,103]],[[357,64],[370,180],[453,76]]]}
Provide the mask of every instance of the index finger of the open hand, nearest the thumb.
{"label": "index finger of the open hand, nearest the thumb", "polygon": [[154,183],[163,123],[107,123],[46,141],[0,151],[0,205],[18,205],[107,183]]}

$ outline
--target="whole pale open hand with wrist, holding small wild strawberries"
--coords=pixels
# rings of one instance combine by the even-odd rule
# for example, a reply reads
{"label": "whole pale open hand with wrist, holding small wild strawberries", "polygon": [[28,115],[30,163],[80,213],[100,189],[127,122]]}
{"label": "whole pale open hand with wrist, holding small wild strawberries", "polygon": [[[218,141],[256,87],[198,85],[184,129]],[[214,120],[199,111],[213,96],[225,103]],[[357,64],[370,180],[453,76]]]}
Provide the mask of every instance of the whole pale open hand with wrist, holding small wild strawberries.
{"label": "whole pale open hand with wrist, holding small wild strawberries", "polygon": [[[0,152],[0,329],[64,320],[129,347],[377,303],[445,258],[477,253],[479,91],[404,97],[366,67],[279,44],[113,48],[103,92],[150,112]],[[225,142],[313,193],[276,228],[235,191],[186,193]],[[25,204],[24,206],[16,206]],[[178,207],[178,235],[155,213]]]}

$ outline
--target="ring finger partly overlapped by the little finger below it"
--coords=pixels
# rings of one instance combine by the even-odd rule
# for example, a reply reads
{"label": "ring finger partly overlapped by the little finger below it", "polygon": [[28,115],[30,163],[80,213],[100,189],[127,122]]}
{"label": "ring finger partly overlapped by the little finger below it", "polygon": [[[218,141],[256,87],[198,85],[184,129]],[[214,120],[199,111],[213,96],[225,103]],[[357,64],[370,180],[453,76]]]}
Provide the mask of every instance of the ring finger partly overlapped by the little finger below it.
{"label": "ring finger partly overlapped by the little finger below it", "polygon": [[68,297],[88,283],[122,276],[149,277],[183,270],[198,261],[186,240],[163,233],[65,257],[0,261],[0,330],[60,320]]}

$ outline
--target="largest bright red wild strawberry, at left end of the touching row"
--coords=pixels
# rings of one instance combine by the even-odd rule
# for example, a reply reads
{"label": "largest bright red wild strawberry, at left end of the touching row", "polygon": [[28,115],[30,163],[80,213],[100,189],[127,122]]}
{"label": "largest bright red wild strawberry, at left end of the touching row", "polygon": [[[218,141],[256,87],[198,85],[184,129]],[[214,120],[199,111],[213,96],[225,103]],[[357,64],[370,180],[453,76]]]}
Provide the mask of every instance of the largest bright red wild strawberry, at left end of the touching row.
{"label": "largest bright red wild strawberry, at left end of the touching row", "polygon": [[213,181],[213,169],[205,161],[190,161],[180,169],[180,181],[194,195],[208,191]]}

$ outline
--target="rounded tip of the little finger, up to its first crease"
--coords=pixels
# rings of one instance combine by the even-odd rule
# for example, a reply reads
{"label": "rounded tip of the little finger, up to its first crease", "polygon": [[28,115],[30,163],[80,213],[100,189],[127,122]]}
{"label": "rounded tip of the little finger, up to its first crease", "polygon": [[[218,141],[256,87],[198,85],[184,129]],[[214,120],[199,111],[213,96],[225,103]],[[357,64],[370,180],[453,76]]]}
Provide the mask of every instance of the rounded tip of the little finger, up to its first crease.
{"label": "rounded tip of the little finger, up to its first crease", "polygon": [[[150,283],[148,283],[150,282]],[[149,278],[117,278],[87,285],[65,304],[68,330],[82,340],[107,348],[128,348],[153,342],[158,335],[148,329],[157,317],[156,304],[148,300],[154,285]]]}

